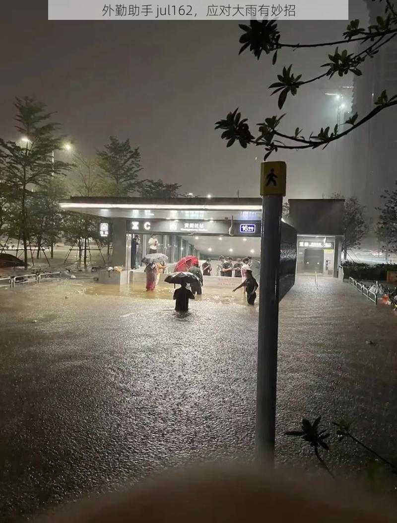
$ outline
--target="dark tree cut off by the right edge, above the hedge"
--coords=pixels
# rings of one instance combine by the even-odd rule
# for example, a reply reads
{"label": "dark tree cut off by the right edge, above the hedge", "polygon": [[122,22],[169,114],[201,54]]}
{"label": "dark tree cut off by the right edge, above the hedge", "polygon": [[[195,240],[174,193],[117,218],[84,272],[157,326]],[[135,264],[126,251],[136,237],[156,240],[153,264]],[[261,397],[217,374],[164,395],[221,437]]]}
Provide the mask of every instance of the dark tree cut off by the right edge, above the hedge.
{"label": "dark tree cut off by the right edge, above the hedge", "polygon": [[377,208],[380,213],[376,233],[382,243],[386,263],[389,263],[390,254],[397,252],[397,189],[385,190],[381,198],[384,204],[383,207]]}

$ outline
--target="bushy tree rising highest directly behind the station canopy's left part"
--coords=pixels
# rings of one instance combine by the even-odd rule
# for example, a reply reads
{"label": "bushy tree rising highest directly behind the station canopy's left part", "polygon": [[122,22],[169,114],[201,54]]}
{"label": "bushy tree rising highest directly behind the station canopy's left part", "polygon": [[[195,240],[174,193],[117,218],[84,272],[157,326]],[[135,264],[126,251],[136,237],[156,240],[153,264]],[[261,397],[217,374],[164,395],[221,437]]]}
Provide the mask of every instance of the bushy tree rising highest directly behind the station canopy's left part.
{"label": "bushy tree rising highest directly behind the station canopy's left part", "polygon": [[130,140],[121,142],[111,136],[110,142],[98,151],[97,162],[109,196],[128,196],[135,190],[138,173],[142,170],[139,147],[131,148]]}

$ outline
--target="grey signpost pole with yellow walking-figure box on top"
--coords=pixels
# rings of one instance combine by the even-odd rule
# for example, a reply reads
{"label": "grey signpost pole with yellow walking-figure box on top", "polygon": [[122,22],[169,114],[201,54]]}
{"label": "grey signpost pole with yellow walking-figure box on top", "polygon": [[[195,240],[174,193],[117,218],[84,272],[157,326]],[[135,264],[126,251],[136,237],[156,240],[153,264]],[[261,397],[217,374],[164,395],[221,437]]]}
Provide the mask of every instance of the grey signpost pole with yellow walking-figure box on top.
{"label": "grey signpost pole with yellow walking-figure box on top", "polygon": [[[272,168],[268,168],[271,164]],[[273,170],[275,167],[277,175]],[[277,165],[279,164],[279,165]],[[279,265],[281,217],[285,195],[284,162],[262,164],[262,237],[258,323],[258,371],[256,382],[255,454],[257,460],[274,464]],[[266,178],[276,179],[269,187]],[[276,192],[276,190],[278,191]]]}

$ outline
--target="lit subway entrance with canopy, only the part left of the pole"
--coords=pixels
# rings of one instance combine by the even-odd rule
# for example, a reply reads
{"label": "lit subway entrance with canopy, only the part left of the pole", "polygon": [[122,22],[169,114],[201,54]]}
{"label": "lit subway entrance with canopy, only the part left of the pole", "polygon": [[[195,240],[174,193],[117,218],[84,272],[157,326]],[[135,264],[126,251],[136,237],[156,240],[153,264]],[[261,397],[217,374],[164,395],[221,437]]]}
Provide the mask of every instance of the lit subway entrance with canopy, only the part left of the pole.
{"label": "lit subway entrance with canopy, only the part left of the pole", "polygon": [[[61,202],[61,207],[100,217],[101,234],[112,234],[113,265],[127,269],[143,271],[141,260],[149,253],[153,235],[157,252],[168,257],[170,272],[178,260],[192,255],[200,259],[200,265],[210,259],[212,276],[219,278],[219,256],[230,257],[233,263],[247,256],[260,257],[260,198],[71,198]],[[136,235],[140,240],[137,264],[131,267]],[[224,284],[230,278],[225,280]]]}

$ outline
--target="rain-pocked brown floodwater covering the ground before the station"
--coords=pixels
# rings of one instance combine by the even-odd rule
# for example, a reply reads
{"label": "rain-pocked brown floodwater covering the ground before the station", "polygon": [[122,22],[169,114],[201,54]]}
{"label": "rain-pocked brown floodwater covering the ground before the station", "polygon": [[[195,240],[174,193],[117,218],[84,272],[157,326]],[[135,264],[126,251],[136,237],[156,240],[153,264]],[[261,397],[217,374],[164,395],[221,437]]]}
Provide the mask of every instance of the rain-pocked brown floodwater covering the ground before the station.
{"label": "rain-pocked brown floodwater covering the ground before the station", "polygon": [[[2,521],[186,461],[251,457],[258,308],[209,293],[184,316],[170,287],[147,295],[71,280],[0,294]],[[317,467],[284,431],[320,414],[352,419],[397,456],[396,328],[347,283],[298,281],[281,303],[279,463]],[[368,461],[334,447],[333,466]]]}

